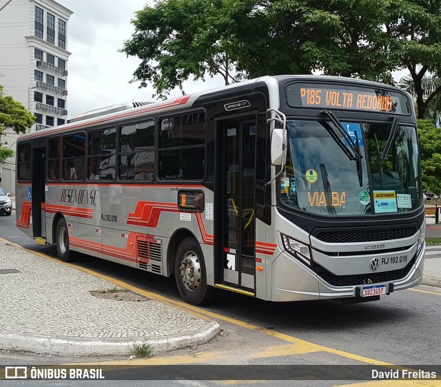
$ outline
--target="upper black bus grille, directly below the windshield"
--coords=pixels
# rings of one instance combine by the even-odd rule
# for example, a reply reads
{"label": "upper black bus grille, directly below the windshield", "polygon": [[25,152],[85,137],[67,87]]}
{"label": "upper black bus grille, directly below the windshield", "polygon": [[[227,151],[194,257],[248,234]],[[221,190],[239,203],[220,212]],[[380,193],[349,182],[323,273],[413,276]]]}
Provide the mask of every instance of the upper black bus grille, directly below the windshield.
{"label": "upper black bus grille, directly below the windshield", "polygon": [[313,236],[329,244],[349,244],[355,242],[389,241],[391,239],[408,238],[418,231],[416,226],[397,228],[377,228],[360,230],[318,230]]}

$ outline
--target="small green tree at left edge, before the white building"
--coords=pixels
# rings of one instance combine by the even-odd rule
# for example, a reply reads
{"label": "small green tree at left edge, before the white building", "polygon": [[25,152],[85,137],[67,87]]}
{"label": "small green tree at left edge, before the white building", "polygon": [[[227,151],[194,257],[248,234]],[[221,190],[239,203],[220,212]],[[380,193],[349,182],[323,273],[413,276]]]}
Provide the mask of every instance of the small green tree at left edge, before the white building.
{"label": "small green tree at left edge, before the white building", "polygon": [[[16,133],[25,133],[35,122],[35,117],[21,103],[14,101],[12,97],[3,95],[3,86],[0,85],[0,139],[4,129],[10,128]],[[0,163],[14,152],[1,146],[0,141]]]}

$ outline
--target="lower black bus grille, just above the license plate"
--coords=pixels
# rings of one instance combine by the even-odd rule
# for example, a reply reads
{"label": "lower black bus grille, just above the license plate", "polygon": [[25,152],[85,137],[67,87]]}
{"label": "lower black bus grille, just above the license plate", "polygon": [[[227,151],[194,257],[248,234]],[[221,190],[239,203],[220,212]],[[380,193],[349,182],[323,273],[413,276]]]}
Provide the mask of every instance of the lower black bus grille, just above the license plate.
{"label": "lower black bus grille, just above the license plate", "polygon": [[397,279],[406,277],[407,273],[411,270],[413,264],[415,264],[416,255],[411,259],[409,264],[405,268],[398,270],[391,270],[385,272],[372,272],[368,274],[358,275],[334,275],[327,270],[320,268],[316,273],[319,277],[325,280],[328,284],[333,286],[355,286],[355,285],[367,285],[378,284],[379,282],[392,282]]}

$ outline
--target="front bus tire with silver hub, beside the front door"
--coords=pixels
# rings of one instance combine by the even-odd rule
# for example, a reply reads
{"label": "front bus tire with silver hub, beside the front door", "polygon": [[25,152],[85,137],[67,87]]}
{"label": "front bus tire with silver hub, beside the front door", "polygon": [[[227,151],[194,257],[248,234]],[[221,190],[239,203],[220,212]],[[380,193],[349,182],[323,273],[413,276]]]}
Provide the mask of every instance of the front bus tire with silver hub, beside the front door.
{"label": "front bus tire with silver hub, beside the front door", "polygon": [[179,293],[192,305],[207,304],[212,298],[212,288],[207,286],[204,256],[196,239],[184,239],[176,252],[174,277]]}

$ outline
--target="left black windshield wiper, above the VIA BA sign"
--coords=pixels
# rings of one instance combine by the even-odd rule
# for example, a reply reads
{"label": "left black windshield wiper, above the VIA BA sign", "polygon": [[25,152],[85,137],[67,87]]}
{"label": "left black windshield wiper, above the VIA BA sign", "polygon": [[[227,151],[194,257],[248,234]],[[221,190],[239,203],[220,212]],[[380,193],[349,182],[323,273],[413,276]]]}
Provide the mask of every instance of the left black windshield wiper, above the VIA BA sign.
{"label": "left black windshield wiper, above the VIA BA sign", "polygon": [[358,182],[360,183],[360,187],[363,185],[363,175],[362,175],[362,164],[361,159],[363,158],[361,152],[360,152],[360,141],[358,141],[358,134],[355,132],[356,136],[356,143],[354,144],[351,136],[349,136],[349,133],[345,130],[345,127],[342,125],[342,123],[338,120],[338,118],[334,115],[333,112],[330,110],[322,110],[321,113],[327,115],[329,117],[329,120],[334,123],[334,126],[338,129],[338,132],[340,132],[340,135],[345,139],[347,142],[346,144],[338,137],[337,133],[334,132],[332,127],[327,124],[325,126],[326,130],[329,132],[329,135],[336,141],[337,145],[340,146],[343,152],[345,152],[345,155],[349,158],[351,161],[356,161],[357,166],[357,175],[358,175]]}

